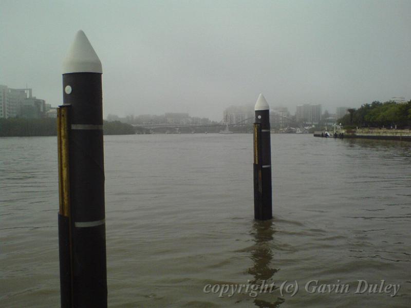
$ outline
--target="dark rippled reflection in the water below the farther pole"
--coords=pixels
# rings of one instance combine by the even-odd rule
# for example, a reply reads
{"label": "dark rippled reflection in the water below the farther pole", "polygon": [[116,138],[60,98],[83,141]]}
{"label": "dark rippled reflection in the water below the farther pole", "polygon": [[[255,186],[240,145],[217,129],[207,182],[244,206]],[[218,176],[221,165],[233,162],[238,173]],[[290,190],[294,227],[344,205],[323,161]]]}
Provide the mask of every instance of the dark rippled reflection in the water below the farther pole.
{"label": "dark rippled reflection in the water below the farther pole", "polygon": [[[261,286],[263,283],[265,285],[271,284],[274,282],[274,274],[279,271],[279,268],[272,267],[273,251],[271,245],[274,233],[275,229],[272,220],[254,221],[251,235],[254,237],[255,245],[250,256],[253,266],[248,269],[248,273],[254,276],[252,284],[257,284],[258,286]],[[284,302],[284,299],[281,297],[277,297],[274,302],[271,302],[261,299],[263,296],[264,293],[260,293],[254,299],[256,307],[276,308]],[[273,297],[274,294],[267,294],[267,296]]]}

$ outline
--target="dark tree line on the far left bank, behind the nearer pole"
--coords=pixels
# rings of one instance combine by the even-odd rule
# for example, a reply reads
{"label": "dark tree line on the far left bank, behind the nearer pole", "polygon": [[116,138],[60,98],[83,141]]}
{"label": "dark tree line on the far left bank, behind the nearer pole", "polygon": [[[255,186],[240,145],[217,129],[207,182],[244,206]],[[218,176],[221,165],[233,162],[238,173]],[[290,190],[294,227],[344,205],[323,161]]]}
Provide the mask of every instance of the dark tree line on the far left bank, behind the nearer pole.
{"label": "dark tree line on the far left bank, behind the nearer pole", "polygon": [[[104,134],[134,134],[133,126],[119,121],[104,121]],[[0,137],[57,136],[57,120],[54,118],[0,119]]]}

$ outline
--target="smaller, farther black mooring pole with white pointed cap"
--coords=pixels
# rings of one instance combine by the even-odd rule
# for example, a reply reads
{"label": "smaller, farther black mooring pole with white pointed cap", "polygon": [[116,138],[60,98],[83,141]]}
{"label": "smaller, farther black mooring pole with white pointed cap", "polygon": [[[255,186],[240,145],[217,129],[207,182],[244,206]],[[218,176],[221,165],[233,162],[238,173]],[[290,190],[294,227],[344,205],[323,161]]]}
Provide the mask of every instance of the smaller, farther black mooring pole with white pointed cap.
{"label": "smaller, farther black mooring pole with white pointed cap", "polygon": [[270,107],[260,94],[254,107],[254,218],[272,218]]}

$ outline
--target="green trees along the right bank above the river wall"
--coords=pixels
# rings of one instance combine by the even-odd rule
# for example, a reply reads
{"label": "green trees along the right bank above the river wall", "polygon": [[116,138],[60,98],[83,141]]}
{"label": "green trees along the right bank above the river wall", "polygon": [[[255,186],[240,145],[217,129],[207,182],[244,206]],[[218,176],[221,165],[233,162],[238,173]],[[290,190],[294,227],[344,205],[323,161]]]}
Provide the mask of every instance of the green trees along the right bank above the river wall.
{"label": "green trees along the right bank above the river wall", "polygon": [[372,102],[360,108],[347,109],[348,114],[339,119],[345,126],[409,128],[411,126],[411,100],[407,103]]}

